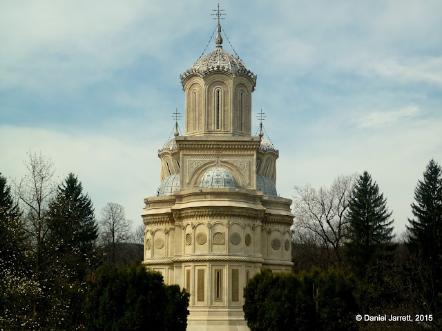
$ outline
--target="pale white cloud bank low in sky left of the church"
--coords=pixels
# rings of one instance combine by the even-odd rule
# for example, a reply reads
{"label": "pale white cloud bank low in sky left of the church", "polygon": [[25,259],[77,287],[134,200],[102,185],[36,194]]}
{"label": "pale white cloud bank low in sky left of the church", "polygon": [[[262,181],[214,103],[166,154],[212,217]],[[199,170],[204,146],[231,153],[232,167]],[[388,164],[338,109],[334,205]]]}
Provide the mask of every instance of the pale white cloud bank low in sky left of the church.
{"label": "pale white cloud bank low in sky left of the church", "polygon": [[[141,222],[143,199],[155,195],[160,185],[160,141],[116,139],[88,132],[60,132],[41,128],[0,126],[0,172],[10,179],[19,179],[25,168],[26,152],[41,151],[50,157],[58,181],[74,172],[88,193],[99,217],[108,202],[119,203],[135,224]],[[22,166],[21,166],[22,165]]]}

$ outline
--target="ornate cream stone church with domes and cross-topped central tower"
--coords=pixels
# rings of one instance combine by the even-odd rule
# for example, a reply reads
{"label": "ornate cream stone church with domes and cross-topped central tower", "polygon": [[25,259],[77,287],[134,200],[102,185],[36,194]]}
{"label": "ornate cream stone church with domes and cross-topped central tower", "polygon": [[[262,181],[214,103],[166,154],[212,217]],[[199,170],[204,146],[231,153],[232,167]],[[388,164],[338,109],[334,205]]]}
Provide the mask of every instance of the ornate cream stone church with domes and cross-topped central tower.
{"label": "ornate cream stone church with domes and cross-topped central tower", "polygon": [[[276,192],[270,141],[251,135],[256,75],[222,48],[180,76],[185,134],[158,151],[160,188],[144,199],[144,261],[191,294],[187,330],[249,330],[243,288],[262,268],[291,270],[291,200]],[[262,119],[262,112],[261,112]]]}

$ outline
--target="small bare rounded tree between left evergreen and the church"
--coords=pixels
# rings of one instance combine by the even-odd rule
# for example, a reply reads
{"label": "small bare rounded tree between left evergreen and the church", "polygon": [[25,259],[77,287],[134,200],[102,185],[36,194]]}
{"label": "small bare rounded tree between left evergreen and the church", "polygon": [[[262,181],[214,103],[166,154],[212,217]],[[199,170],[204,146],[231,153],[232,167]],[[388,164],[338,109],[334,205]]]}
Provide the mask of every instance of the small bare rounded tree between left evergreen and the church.
{"label": "small bare rounded tree between left evergreen and the church", "polygon": [[110,251],[111,262],[115,264],[120,244],[131,239],[131,222],[126,219],[122,205],[108,202],[102,209],[99,223],[102,243]]}

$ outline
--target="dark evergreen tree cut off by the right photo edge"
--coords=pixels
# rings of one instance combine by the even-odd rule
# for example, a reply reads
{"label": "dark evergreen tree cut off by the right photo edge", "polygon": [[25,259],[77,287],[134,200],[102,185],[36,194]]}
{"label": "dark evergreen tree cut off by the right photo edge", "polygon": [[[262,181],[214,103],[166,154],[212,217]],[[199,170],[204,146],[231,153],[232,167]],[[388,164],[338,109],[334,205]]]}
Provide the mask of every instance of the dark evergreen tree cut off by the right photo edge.
{"label": "dark evergreen tree cut off by the right photo edge", "polygon": [[[425,308],[438,319],[442,316],[442,170],[434,160],[428,163],[423,181],[418,181],[412,203],[414,219],[407,246],[423,294]],[[439,321],[441,323],[441,321]]]}

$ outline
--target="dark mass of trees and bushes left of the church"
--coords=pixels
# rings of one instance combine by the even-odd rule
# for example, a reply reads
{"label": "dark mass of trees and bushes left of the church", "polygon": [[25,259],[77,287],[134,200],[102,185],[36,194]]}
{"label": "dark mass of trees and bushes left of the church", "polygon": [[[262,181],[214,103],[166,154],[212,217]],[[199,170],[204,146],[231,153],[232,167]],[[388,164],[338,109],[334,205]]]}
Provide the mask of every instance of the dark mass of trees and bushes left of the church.
{"label": "dark mass of trees and bushes left of the church", "polygon": [[140,265],[144,226],[117,203],[95,217],[75,174],[28,157],[19,181],[0,174],[0,330],[184,331],[189,294]]}

